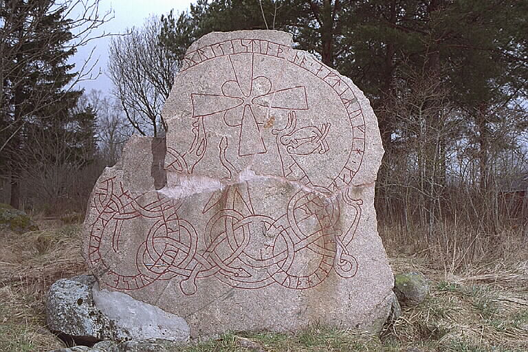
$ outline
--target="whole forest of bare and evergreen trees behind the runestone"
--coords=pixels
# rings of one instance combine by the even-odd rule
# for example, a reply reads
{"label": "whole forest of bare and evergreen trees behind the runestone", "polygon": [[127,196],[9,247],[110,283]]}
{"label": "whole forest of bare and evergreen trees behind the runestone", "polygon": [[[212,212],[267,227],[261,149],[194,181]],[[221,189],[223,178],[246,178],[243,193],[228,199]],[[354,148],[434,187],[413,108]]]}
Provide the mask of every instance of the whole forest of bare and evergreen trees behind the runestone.
{"label": "whole forest of bare and evergreen trees behind the runestone", "polygon": [[90,64],[68,64],[109,20],[97,5],[0,0],[0,202],[82,217],[127,138],[164,135],[160,111],[192,41],[276,29],[371,100],[386,243],[455,266],[527,243],[528,1],[198,0],[113,36],[111,96],[78,89]]}

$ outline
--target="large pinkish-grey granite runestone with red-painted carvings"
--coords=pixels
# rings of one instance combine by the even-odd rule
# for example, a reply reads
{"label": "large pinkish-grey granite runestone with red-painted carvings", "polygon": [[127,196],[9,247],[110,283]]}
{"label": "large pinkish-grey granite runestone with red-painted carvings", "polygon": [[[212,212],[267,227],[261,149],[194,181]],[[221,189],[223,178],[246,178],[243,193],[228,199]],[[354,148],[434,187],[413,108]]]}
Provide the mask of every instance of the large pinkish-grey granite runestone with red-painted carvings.
{"label": "large pinkish-grey granite runestone with red-painted carvings", "polygon": [[163,115],[166,144],[133,137],[89,200],[83,250],[102,288],[184,318],[192,337],[380,329],[383,148],[349,78],[283,32],[211,33]]}

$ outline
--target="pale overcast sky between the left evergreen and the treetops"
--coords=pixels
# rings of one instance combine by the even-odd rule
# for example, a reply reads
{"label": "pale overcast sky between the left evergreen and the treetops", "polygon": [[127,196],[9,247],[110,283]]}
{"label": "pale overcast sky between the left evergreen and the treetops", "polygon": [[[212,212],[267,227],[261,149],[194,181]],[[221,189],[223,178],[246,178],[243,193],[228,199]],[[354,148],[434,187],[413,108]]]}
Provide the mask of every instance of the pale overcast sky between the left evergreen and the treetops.
{"label": "pale overcast sky between the left evergreen and the treetops", "polygon": [[[126,28],[141,27],[144,20],[151,14],[161,16],[173,9],[179,13],[187,10],[190,3],[192,3],[191,0],[100,0],[100,13],[104,14],[112,10],[113,19],[104,23],[94,34],[100,35],[103,30],[106,33],[123,33],[126,32]],[[106,75],[110,41],[109,37],[90,41],[85,47],[80,47],[73,58],[76,71],[78,71],[91,50],[95,48],[92,62],[98,59],[98,65],[94,67],[94,74],[99,70],[102,74],[96,80],[85,80],[79,84],[87,92],[91,89],[98,89],[103,91],[103,94],[110,94],[112,83]]]}

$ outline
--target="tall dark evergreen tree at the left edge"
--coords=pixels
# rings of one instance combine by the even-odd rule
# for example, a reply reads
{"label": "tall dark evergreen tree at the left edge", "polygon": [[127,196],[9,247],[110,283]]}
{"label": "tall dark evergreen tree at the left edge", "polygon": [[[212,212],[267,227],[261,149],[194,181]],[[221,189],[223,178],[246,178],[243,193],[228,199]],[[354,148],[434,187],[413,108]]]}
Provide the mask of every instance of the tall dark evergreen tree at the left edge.
{"label": "tall dark evergreen tree at the left edge", "polygon": [[[36,148],[52,144],[50,133],[74,129],[64,124],[81,91],[68,89],[75,74],[67,60],[72,21],[67,8],[53,0],[5,0],[0,3],[2,52],[1,163],[11,177],[10,203],[20,205],[21,177],[32,165]],[[38,132],[38,133],[37,133]],[[35,140],[37,135],[45,140]],[[61,141],[58,141],[61,142]],[[47,145],[50,145],[47,144]],[[56,160],[57,162],[58,160]]]}

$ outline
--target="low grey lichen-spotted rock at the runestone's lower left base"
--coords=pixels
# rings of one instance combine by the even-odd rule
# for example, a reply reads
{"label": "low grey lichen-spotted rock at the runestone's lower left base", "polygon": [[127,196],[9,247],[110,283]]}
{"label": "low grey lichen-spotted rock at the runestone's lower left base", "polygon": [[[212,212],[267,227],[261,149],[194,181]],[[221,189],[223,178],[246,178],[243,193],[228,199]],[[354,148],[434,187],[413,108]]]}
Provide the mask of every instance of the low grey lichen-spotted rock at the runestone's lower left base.
{"label": "low grey lichen-spotted rock at the runestone's lower left base", "polygon": [[50,330],[77,343],[189,338],[183,318],[126,294],[100,290],[94,276],[56,281],[47,295],[46,309]]}

